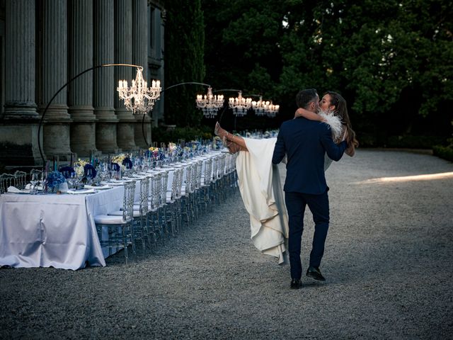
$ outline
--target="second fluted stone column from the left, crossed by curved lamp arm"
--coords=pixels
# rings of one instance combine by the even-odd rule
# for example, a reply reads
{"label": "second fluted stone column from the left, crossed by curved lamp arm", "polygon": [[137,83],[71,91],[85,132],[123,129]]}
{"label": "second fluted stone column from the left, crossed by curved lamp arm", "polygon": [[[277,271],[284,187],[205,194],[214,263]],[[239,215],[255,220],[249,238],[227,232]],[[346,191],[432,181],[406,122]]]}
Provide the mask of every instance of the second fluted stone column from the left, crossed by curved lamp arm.
{"label": "second fluted stone column from the left, crossed by curved lamp arm", "polygon": [[[42,0],[40,17],[40,84],[38,88],[40,112],[57,91],[67,83],[67,1]],[[67,107],[67,89],[62,89],[45,112],[44,152],[49,159],[69,160],[69,123],[71,116]]]}

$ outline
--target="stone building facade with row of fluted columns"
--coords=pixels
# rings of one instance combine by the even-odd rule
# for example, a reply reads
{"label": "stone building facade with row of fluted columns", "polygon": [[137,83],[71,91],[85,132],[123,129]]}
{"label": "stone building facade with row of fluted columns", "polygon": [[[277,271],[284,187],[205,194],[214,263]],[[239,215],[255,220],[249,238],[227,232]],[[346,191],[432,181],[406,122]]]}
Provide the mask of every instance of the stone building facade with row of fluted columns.
{"label": "stone building facade with row of fluted columns", "polygon": [[126,111],[116,91],[136,69],[71,79],[101,64],[137,64],[149,84],[164,86],[164,14],[162,0],[0,0],[0,163],[147,147],[162,101],[142,129],[143,116]]}

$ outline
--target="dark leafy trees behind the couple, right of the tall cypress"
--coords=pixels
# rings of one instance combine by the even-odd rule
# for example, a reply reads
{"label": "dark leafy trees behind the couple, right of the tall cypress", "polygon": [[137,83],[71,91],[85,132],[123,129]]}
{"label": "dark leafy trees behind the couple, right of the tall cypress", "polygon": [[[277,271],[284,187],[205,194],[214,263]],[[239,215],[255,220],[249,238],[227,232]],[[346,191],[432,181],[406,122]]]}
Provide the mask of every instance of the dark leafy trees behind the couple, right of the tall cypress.
{"label": "dark leafy trees behind the couple, right of the tall cypress", "polygon": [[217,89],[273,98],[285,118],[294,114],[300,89],[338,91],[348,101],[355,130],[378,144],[387,142],[386,134],[452,133],[451,1],[202,5],[207,79]]}

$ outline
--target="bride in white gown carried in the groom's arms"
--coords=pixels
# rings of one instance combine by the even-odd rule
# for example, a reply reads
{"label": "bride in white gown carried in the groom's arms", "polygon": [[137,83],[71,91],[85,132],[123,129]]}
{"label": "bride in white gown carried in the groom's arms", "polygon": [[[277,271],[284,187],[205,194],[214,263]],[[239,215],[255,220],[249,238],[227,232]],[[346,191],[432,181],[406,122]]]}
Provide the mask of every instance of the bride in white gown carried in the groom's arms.
{"label": "bride in white gown carried in the groom's arms", "polygon": [[[330,126],[335,142],[348,137],[345,153],[352,157],[358,142],[352,130],[345,99],[336,92],[328,91],[319,102],[319,114],[298,108],[296,116],[319,120]],[[346,131],[348,132],[346,134]],[[288,217],[285,196],[278,166],[272,164],[277,138],[256,140],[232,135],[216,124],[214,133],[222,137],[231,153],[239,152],[236,158],[236,171],[239,191],[250,215],[251,239],[263,254],[275,256],[278,263],[285,263],[288,238]],[[240,152],[241,151],[241,152]],[[332,160],[327,156],[324,171]]]}

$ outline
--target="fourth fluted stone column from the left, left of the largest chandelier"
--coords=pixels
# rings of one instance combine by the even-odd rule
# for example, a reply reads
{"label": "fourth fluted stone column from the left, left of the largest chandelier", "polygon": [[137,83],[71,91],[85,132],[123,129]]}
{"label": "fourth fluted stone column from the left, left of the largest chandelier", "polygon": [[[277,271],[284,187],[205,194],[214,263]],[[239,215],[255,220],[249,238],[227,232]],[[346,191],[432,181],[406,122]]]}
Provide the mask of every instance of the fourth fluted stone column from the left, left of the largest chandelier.
{"label": "fourth fluted stone column from the left, left of the largest chandelier", "polygon": [[[94,1],[94,64],[115,62],[115,2],[114,0]],[[114,98],[117,96],[115,67],[101,67],[94,70],[93,106],[96,123],[96,147],[104,153],[119,152],[117,145],[117,116]]]}

